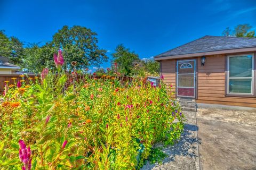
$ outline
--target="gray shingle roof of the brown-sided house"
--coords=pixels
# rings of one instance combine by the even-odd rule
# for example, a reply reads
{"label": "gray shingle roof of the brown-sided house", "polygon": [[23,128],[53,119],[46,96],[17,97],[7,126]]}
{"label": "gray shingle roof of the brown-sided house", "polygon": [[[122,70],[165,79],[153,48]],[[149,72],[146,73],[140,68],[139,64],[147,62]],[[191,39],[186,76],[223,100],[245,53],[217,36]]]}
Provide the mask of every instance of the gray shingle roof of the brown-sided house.
{"label": "gray shingle roof of the brown-sided house", "polygon": [[155,57],[256,47],[256,38],[204,36]]}

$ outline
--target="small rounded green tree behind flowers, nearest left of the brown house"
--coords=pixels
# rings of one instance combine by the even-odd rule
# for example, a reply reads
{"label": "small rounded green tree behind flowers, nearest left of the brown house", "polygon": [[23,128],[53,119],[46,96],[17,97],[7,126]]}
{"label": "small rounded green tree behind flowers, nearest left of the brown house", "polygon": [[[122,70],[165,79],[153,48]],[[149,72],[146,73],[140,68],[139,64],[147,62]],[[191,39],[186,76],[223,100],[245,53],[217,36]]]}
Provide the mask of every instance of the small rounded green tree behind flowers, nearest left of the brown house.
{"label": "small rounded green tree behind flowers, nearest left of the brown house", "polygon": [[125,48],[123,44],[120,44],[116,47],[112,56],[114,62],[118,65],[118,72],[128,76],[134,75],[134,66],[140,62],[138,54],[130,52],[129,48]]}

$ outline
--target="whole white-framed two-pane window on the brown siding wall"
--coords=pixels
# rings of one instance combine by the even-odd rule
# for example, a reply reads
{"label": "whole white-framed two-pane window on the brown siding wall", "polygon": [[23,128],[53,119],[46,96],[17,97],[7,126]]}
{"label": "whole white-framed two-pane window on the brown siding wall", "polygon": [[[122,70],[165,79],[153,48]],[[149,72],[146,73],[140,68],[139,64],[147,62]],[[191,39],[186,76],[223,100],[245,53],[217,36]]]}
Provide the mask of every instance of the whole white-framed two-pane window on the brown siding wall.
{"label": "whole white-framed two-pane window on the brown siding wall", "polygon": [[254,56],[228,56],[228,94],[253,95]]}

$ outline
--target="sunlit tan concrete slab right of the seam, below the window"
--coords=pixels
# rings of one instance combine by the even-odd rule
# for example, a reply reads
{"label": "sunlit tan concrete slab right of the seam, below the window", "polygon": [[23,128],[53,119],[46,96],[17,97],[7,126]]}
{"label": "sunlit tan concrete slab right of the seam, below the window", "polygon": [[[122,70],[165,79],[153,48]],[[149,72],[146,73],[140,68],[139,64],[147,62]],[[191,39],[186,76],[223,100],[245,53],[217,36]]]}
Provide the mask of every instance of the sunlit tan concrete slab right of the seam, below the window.
{"label": "sunlit tan concrete slab right of the seam, below the window", "polygon": [[256,169],[256,113],[198,109],[201,169]]}

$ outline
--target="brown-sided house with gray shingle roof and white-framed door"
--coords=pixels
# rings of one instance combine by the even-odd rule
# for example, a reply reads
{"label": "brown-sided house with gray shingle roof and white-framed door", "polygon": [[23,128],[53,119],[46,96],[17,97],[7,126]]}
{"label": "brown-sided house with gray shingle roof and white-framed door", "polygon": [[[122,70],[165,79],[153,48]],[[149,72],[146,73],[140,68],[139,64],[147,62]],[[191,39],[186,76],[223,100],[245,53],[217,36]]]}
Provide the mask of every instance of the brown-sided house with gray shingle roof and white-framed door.
{"label": "brown-sided house with gray shingle roof and white-framed door", "polygon": [[256,38],[204,36],[154,59],[180,100],[199,107],[255,108],[255,55]]}

